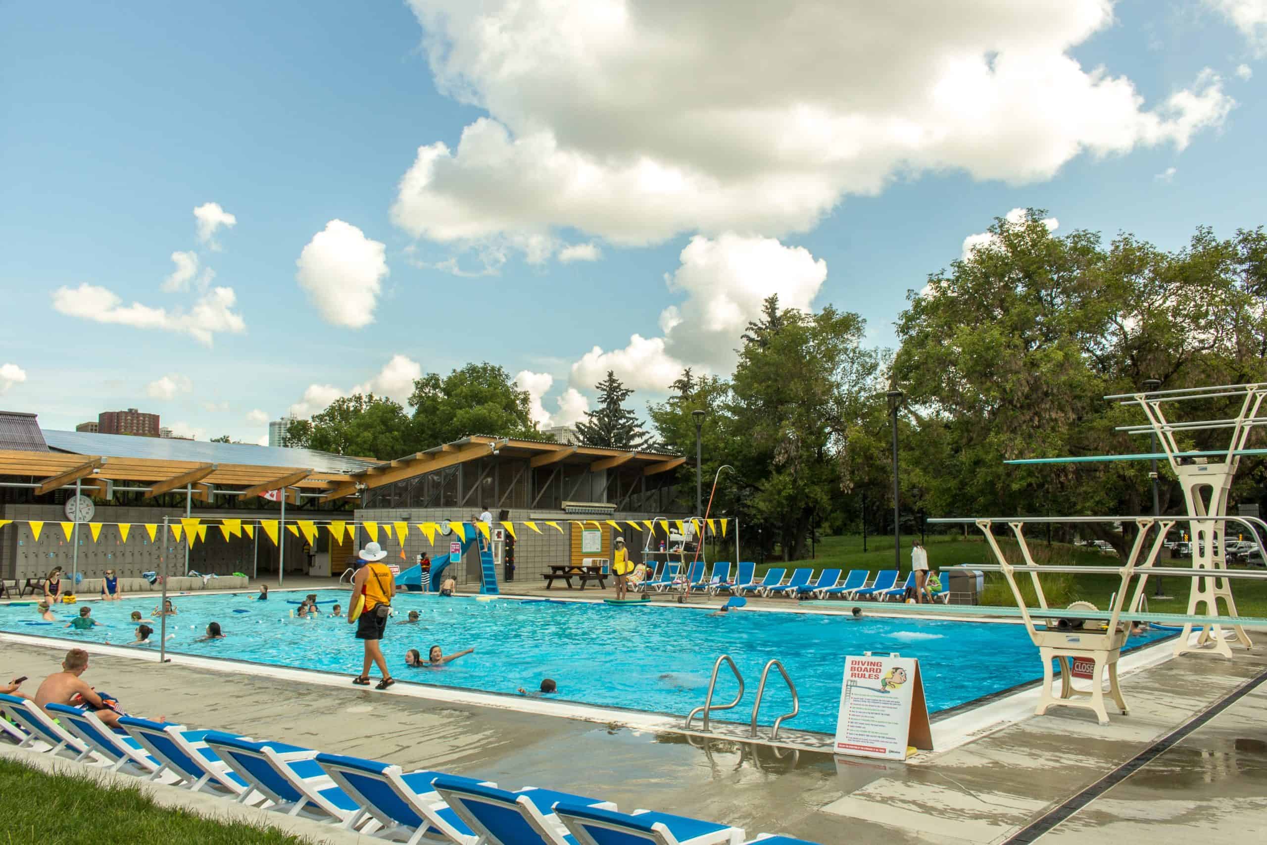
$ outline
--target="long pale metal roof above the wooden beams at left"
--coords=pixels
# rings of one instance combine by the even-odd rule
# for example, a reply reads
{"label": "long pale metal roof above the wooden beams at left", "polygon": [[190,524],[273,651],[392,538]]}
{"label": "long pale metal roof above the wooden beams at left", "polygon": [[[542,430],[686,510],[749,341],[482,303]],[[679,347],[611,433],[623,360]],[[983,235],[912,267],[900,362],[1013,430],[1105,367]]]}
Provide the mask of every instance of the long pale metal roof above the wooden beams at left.
{"label": "long pale metal roof above the wooden beams at left", "polygon": [[[4,440],[4,417],[0,416],[0,442]],[[38,428],[37,428],[38,432]],[[62,452],[101,455],[106,457],[150,457],[201,464],[245,464],[250,466],[300,466],[318,473],[356,473],[374,466],[374,461],[317,452],[309,448],[252,446],[250,443],[212,443],[175,437],[134,437],[101,435],[86,431],[44,429],[43,441]],[[4,448],[23,448],[4,446]]]}

